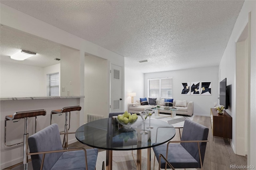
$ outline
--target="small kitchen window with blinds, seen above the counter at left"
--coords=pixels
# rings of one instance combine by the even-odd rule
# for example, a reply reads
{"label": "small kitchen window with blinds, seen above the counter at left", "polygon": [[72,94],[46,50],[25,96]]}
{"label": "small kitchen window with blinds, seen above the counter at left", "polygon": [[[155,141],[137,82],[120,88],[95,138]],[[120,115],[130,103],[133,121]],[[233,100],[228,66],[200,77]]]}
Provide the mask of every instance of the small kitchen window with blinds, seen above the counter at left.
{"label": "small kitchen window with blinds, seen above the counter at left", "polygon": [[47,75],[47,95],[59,95],[59,73],[52,73]]}

